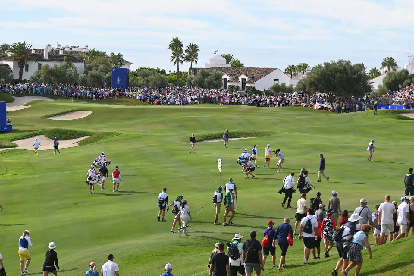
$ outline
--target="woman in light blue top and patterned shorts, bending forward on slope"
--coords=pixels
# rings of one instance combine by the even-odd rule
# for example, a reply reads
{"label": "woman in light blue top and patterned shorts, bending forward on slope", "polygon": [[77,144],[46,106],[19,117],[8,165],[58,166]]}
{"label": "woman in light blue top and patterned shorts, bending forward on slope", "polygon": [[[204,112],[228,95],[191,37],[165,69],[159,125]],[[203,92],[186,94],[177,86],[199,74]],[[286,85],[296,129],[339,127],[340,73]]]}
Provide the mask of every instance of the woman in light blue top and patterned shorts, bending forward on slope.
{"label": "woman in light blue top and patterned shorts, bending forward on slope", "polygon": [[347,256],[348,261],[352,261],[352,263],[349,264],[346,269],[342,270],[342,275],[348,276],[349,270],[351,270],[354,266],[356,266],[355,275],[359,275],[363,261],[361,250],[364,246],[368,249],[369,258],[372,259],[371,246],[368,242],[368,235],[371,232],[371,229],[371,225],[363,224],[361,226],[361,231],[355,233],[352,242],[349,245],[349,252]]}

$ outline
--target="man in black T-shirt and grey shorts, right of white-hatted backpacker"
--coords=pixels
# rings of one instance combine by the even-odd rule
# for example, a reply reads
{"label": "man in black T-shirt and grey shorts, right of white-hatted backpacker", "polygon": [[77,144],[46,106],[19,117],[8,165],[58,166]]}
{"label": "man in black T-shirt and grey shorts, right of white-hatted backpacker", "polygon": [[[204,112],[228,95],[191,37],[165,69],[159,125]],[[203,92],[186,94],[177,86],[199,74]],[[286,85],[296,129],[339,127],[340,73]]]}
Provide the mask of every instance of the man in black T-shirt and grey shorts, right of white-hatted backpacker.
{"label": "man in black T-shirt and grey shorts, right of white-hatted backpacker", "polygon": [[256,272],[256,276],[260,276],[260,271],[263,268],[262,245],[256,240],[256,236],[255,230],[250,231],[250,239],[243,243],[242,258],[246,276],[251,276],[253,270]]}

